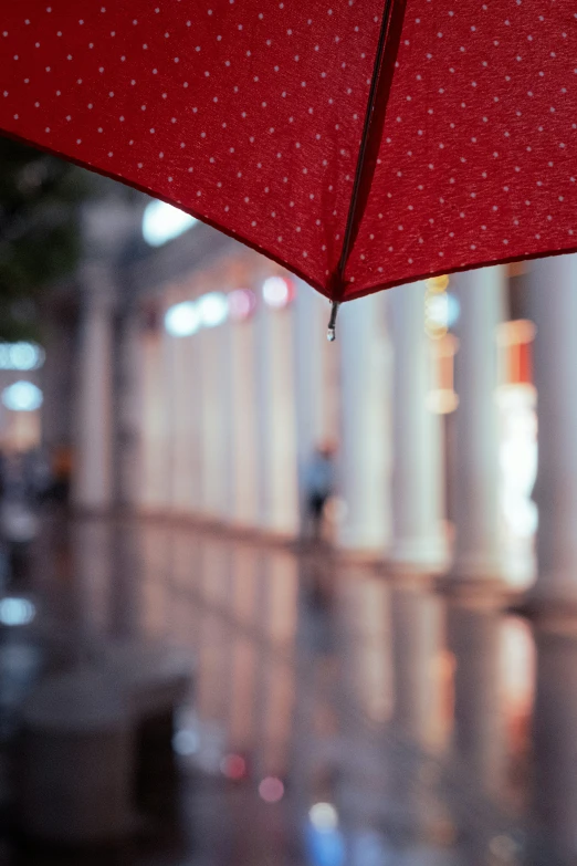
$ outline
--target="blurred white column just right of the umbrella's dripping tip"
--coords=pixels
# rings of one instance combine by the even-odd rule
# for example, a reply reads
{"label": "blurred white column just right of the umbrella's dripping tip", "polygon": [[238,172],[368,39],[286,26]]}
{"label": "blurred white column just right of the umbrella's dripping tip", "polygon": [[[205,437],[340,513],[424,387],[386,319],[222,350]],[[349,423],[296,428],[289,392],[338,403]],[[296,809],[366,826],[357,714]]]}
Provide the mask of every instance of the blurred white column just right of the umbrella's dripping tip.
{"label": "blurred white column just right of the umbrella's dripping tip", "polygon": [[[323,323],[326,331],[326,322]],[[340,543],[382,551],[390,535],[389,346],[385,296],[374,294],[340,310],[340,480],[346,515]],[[336,346],[333,346],[336,348]]]}

